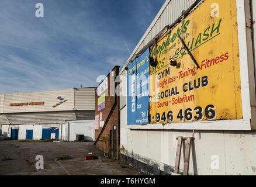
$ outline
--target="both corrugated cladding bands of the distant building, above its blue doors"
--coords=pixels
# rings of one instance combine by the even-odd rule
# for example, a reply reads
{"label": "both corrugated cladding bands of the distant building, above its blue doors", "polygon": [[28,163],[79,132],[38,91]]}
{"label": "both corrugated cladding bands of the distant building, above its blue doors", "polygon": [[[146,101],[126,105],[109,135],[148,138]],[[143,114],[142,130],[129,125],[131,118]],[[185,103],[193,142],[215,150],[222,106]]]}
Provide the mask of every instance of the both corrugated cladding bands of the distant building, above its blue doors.
{"label": "both corrugated cladding bands of the distant building, above its blue doors", "polygon": [[[61,105],[57,99],[67,99]],[[10,103],[44,102],[44,105],[10,106]],[[1,114],[2,113],[2,114]],[[0,95],[0,124],[63,124],[95,116],[95,88],[60,89]]]}

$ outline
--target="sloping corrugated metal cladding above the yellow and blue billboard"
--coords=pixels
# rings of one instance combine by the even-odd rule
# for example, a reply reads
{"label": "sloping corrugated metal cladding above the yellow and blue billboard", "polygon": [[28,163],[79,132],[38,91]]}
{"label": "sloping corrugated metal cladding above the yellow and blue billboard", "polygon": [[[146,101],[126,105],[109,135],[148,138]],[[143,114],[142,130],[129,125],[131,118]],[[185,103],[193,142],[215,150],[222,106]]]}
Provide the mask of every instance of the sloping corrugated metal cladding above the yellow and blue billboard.
{"label": "sloping corrugated metal cladding above the yellow and blue billboard", "polygon": [[[134,54],[139,53],[154,37],[164,29],[165,26],[171,25],[182,15],[182,11],[186,11],[196,0],[167,0],[158,12],[157,16],[148,27],[133,53],[128,58],[126,65]],[[126,66],[124,65],[124,66]],[[124,70],[124,67],[120,72]]]}

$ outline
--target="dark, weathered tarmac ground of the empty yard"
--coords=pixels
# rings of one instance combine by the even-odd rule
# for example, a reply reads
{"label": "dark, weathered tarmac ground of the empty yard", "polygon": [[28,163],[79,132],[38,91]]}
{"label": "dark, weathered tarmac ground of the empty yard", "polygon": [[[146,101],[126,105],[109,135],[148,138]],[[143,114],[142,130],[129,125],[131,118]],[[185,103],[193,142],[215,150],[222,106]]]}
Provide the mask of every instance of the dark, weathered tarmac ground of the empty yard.
{"label": "dark, weathered tarmac ground of the empty yard", "polygon": [[[93,144],[0,141],[0,175],[143,175],[129,165],[104,157]],[[35,168],[36,155],[43,155],[44,158],[44,169],[39,171]],[[56,161],[60,155],[70,155],[71,159]],[[97,156],[100,159],[85,160],[85,156]]]}

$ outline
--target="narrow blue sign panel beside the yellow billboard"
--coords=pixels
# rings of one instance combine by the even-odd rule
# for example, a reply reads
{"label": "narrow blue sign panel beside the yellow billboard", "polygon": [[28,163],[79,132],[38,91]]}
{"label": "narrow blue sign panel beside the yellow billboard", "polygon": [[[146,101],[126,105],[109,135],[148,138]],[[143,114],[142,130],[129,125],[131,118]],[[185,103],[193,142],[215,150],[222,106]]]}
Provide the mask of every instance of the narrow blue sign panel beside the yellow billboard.
{"label": "narrow blue sign panel beside the yellow billboard", "polygon": [[148,123],[149,50],[128,65],[127,124]]}

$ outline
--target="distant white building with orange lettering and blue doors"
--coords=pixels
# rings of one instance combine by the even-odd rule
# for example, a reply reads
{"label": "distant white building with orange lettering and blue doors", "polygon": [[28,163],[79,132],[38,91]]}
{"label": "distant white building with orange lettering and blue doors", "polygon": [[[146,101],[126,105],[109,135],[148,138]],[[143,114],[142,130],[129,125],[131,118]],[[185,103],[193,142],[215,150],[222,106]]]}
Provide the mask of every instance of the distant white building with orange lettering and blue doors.
{"label": "distant white building with orange lettering and blue doors", "polygon": [[94,116],[95,88],[0,95],[0,135],[13,139],[94,140]]}

